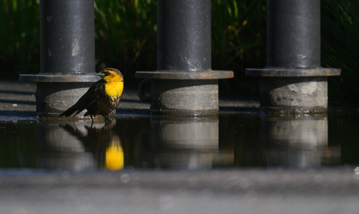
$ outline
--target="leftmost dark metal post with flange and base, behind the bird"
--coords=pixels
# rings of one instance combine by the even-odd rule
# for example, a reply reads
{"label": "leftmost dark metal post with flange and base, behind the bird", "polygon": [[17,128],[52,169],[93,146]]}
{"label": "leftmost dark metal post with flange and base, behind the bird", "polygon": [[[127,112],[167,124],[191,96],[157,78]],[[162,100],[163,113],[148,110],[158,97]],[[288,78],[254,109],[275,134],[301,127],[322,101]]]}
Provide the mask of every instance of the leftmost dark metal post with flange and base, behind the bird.
{"label": "leftmost dark metal post with flange and base, behind the bird", "polygon": [[37,83],[36,110],[58,116],[99,78],[95,76],[94,1],[40,1],[41,71],[20,75]]}

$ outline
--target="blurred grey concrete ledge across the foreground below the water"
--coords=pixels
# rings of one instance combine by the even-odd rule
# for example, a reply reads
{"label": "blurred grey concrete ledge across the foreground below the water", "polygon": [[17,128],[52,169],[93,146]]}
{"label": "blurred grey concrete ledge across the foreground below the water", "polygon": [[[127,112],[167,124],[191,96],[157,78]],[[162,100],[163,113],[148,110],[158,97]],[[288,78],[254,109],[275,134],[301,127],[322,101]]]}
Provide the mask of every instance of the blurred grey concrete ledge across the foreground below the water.
{"label": "blurred grey concrete ledge across the foreground below the water", "polygon": [[354,167],[0,171],[1,213],[358,213]]}

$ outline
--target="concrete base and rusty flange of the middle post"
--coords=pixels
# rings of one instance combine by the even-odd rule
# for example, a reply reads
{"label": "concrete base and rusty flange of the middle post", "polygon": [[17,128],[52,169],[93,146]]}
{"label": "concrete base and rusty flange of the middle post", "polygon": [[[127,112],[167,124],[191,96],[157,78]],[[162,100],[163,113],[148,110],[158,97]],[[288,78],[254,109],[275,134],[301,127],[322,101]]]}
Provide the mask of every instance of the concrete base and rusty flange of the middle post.
{"label": "concrete base and rusty flange of the middle post", "polygon": [[137,71],[136,77],[145,78],[140,98],[151,85],[153,114],[202,116],[218,114],[218,79],[232,78],[233,71]]}

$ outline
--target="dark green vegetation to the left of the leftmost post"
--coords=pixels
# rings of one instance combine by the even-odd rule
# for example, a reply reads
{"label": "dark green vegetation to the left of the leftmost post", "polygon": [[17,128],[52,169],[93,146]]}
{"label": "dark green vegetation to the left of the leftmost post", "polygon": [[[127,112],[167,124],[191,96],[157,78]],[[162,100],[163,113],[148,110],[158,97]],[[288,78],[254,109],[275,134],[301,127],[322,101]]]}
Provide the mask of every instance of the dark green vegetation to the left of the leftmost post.
{"label": "dark green vegetation to the left of the leftmost post", "polygon": [[3,77],[40,71],[39,4],[0,0],[0,68]]}

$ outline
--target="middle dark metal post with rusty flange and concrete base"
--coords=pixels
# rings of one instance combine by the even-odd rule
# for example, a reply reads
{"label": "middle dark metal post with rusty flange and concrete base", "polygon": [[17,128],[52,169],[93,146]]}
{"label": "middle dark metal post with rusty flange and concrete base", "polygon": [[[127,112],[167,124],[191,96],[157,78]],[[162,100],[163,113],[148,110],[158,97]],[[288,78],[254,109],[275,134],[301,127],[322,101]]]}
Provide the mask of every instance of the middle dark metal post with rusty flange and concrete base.
{"label": "middle dark metal post with rusty flange and concrete base", "polygon": [[151,80],[152,113],[218,114],[218,79],[232,77],[211,69],[211,1],[158,0],[157,71],[136,72]]}

